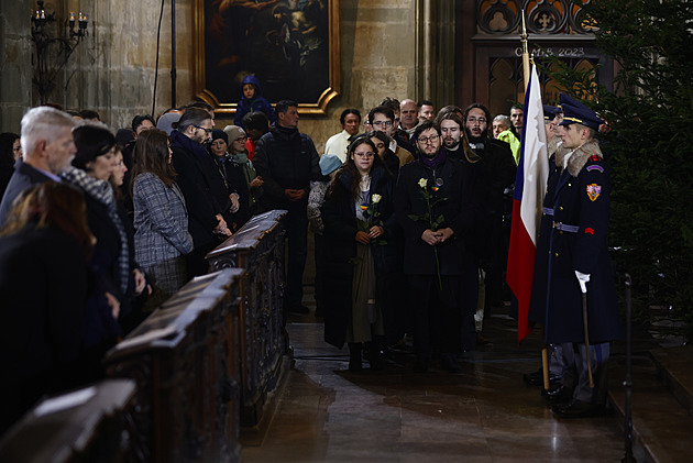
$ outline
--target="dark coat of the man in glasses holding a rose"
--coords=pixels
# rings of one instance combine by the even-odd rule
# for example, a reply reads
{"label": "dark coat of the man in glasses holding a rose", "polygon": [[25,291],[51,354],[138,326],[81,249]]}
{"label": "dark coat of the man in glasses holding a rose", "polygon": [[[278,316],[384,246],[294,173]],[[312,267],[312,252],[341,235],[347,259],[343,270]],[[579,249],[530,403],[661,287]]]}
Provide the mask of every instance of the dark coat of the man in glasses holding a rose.
{"label": "dark coat of the man in glasses holding a rose", "polygon": [[[432,216],[442,214],[444,222],[439,229],[450,227],[454,235],[438,246],[431,246],[421,240],[424,231],[430,228],[429,223],[409,216],[427,213],[428,206],[419,181],[426,179],[426,188],[430,191],[437,178],[443,181],[435,192],[436,198],[447,199],[433,208]],[[427,167],[420,159],[402,166],[395,192],[395,212],[405,232],[405,274],[437,275],[435,247],[438,249],[441,275],[468,272],[475,246],[472,230],[476,209],[474,179],[469,167],[459,161],[444,159],[436,169]]]}

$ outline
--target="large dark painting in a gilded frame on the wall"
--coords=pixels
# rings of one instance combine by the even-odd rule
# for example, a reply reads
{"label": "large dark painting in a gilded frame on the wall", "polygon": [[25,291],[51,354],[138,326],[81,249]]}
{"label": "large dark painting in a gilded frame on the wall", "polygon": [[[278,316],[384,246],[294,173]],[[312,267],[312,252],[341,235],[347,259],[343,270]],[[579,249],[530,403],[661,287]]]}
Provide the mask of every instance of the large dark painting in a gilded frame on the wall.
{"label": "large dark painting in a gilded frame on the wall", "polygon": [[198,98],[234,112],[241,82],[262,96],[326,113],[339,93],[339,0],[194,0]]}

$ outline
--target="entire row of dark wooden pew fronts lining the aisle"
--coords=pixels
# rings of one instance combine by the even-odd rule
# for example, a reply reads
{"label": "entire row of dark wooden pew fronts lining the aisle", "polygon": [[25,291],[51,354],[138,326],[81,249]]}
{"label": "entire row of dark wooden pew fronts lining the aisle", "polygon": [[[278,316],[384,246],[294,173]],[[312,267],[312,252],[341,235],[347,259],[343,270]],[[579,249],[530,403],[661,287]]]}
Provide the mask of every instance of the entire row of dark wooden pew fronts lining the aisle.
{"label": "entire row of dark wooden pew fronts lining the aisle", "polygon": [[121,379],[64,409],[32,409],[3,437],[0,461],[240,462],[241,426],[271,420],[288,370],[285,214],[252,218],[209,253],[209,275],[107,353]]}

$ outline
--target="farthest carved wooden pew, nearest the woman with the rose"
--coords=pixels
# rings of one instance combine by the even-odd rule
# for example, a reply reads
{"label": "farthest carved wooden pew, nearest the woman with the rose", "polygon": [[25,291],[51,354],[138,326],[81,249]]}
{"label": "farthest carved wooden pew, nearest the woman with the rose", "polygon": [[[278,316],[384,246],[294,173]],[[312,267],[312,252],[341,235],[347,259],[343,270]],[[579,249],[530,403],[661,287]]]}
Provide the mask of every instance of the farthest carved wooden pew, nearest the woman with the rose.
{"label": "farthest carved wooden pew, nearest the woman with the rose", "polygon": [[[285,210],[254,216],[233,236],[207,254],[210,272],[242,267],[241,307],[241,426],[263,428],[272,418],[274,394],[287,371],[288,337],[284,313]],[[252,439],[252,438],[251,438]]]}

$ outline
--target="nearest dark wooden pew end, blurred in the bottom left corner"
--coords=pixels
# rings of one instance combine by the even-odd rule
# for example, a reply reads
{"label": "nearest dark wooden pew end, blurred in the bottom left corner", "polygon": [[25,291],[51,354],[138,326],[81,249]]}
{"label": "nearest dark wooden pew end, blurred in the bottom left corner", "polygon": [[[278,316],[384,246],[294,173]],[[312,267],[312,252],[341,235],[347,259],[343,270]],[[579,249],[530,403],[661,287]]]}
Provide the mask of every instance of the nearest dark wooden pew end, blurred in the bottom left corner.
{"label": "nearest dark wooden pew end, blurred in the bottom left corner", "polygon": [[42,400],[0,442],[0,462],[133,461],[135,400],[130,379],[108,379]]}

